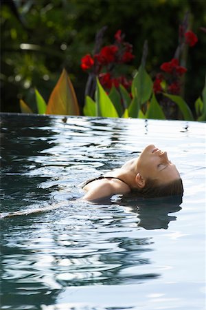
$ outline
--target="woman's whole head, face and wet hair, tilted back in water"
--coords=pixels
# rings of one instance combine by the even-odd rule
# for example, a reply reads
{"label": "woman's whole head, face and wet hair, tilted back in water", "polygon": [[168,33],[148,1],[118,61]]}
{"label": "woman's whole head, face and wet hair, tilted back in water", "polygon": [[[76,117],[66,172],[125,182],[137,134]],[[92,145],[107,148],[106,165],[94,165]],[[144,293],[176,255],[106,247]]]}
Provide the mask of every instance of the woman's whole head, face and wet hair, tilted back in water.
{"label": "woman's whole head, face and wet hair, tilted back in water", "polygon": [[176,166],[155,145],[148,145],[137,159],[135,183],[139,194],[146,197],[183,194]]}

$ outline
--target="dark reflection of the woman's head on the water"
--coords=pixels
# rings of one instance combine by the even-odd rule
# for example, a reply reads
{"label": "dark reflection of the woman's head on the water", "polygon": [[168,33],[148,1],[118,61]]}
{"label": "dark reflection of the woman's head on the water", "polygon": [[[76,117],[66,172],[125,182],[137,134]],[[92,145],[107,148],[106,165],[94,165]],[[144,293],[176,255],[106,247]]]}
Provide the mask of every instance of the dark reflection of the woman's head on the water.
{"label": "dark reflection of the woman's head on the water", "polygon": [[176,220],[176,216],[170,214],[181,210],[181,203],[181,195],[152,199],[133,198],[132,195],[121,200],[121,205],[138,214],[138,226],[145,229],[168,229],[170,221]]}

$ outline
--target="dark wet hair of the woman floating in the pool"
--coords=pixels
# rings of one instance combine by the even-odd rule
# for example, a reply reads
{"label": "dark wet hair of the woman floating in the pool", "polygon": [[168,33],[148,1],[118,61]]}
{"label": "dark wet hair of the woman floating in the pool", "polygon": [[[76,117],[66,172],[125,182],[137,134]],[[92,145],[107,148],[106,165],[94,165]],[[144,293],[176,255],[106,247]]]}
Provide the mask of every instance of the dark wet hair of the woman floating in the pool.
{"label": "dark wet hair of the woman floating in the pool", "polygon": [[146,180],[145,186],[141,189],[135,189],[135,192],[144,198],[183,195],[183,181],[179,178],[170,183],[158,185],[155,180],[149,178]]}

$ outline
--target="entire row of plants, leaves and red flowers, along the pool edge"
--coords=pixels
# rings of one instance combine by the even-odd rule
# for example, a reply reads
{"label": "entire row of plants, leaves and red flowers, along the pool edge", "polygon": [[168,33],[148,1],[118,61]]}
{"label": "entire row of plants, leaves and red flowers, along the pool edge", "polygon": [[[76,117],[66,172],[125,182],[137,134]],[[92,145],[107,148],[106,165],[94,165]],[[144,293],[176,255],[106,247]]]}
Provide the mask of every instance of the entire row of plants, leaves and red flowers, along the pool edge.
{"label": "entire row of plants, leaves and red flowers, along the pool edge", "polygon": [[[180,29],[179,45],[175,52],[176,58],[161,65],[161,70],[165,75],[161,74],[160,76],[160,74],[158,74],[154,83],[145,69],[146,57],[148,54],[148,45],[147,42],[145,42],[141,64],[133,81],[130,83],[130,92],[126,90],[125,85],[119,83],[119,81],[125,81],[124,76],[121,76],[121,80],[119,80],[118,77],[109,79],[107,83],[101,79],[102,68],[105,70],[104,66],[106,66],[107,70],[104,74],[110,74],[110,72],[113,72],[115,65],[127,63],[128,59],[131,60],[134,58],[131,53],[132,47],[129,43],[124,41],[124,35],[121,30],[118,30],[115,34],[116,41],[114,45],[105,46],[100,52],[96,50],[93,56],[90,54],[85,55],[82,58],[81,67],[83,70],[89,70],[89,83],[91,83],[94,78],[96,79],[96,83],[93,83],[93,81],[91,83],[95,86],[95,100],[86,92],[83,109],[84,115],[165,119],[167,116],[163,111],[164,106],[162,102],[166,99],[169,103],[169,108],[172,104],[176,105],[179,112],[181,112],[181,118],[187,121],[194,121],[194,116],[192,115],[190,107],[179,95],[181,87],[180,79],[183,74],[187,72],[185,67],[179,65],[179,58],[181,58],[183,45],[188,44],[194,46],[198,39],[191,30],[190,32],[187,31],[187,19],[180,25]],[[98,38],[100,37],[100,33],[101,32],[99,32]],[[188,33],[190,34],[189,36],[187,35]],[[120,49],[120,44],[123,45],[123,49]],[[99,42],[98,45],[100,46]],[[129,56],[126,54],[128,53],[128,46],[130,49]],[[125,54],[128,56],[128,59],[124,57]],[[104,88],[109,90],[108,94]],[[86,89],[91,90],[91,86],[89,85],[88,87],[88,83]],[[93,94],[93,92],[94,90],[92,90],[91,94]],[[160,103],[155,96],[155,94],[159,93],[162,94]],[[38,90],[35,90],[35,94],[39,114],[80,114],[76,94],[65,69],[62,70],[60,79],[54,87],[47,105]],[[20,105],[22,112],[31,112],[30,107],[22,100],[20,101]],[[203,101],[201,98],[198,98],[195,107],[198,120],[205,121],[205,87],[203,90]]]}

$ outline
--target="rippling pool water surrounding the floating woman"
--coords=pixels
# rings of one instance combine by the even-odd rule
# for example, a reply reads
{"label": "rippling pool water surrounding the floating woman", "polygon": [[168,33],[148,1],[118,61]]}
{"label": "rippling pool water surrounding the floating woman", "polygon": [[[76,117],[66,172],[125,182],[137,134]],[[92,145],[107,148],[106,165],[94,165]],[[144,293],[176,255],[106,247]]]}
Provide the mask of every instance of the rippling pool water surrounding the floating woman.
{"label": "rippling pool water surrounding the floating woman", "polygon": [[[1,309],[205,309],[205,123],[2,114],[1,132]],[[150,143],[180,207],[78,200]]]}

